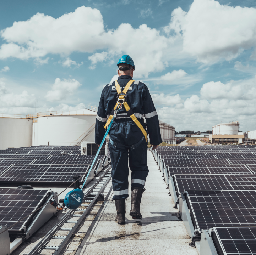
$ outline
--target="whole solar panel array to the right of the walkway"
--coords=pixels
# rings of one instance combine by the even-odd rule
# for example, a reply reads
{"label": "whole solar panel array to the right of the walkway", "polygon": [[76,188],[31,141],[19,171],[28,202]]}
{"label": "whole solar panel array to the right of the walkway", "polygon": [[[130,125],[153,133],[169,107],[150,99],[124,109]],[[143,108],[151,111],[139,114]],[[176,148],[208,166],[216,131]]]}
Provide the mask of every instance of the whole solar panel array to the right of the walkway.
{"label": "whole solar panel array to the right of the walkway", "polygon": [[256,146],[159,146],[153,155],[177,197],[185,191],[195,228],[214,227],[219,254],[256,254]]}

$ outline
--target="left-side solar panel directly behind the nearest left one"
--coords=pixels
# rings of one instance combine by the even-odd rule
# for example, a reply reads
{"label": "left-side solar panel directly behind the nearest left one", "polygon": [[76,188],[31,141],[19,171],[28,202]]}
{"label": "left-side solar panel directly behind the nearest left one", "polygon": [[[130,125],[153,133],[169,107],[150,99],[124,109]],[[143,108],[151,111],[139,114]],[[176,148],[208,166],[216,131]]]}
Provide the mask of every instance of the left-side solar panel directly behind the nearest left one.
{"label": "left-side solar panel directly behind the nearest left one", "polygon": [[71,183],[72,176],[86,173],[89,165],[12,165],[0,176],[0,183]]}

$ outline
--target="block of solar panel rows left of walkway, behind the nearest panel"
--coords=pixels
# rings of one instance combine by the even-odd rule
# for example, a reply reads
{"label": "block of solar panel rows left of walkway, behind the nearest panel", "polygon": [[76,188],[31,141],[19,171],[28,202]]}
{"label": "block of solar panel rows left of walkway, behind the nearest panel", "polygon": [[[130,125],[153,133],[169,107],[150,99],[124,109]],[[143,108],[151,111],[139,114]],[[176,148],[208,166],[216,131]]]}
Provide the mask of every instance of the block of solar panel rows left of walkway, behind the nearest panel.
{"label": "block of solar panel rows left of walkway, behind the nearest panel", "polygon": [[[61,155],[62,151],[71,155]],[[81,155],[78,146],[31,146],[0,150],[0,183],[35,185],[54,182],[66,185],[73,182],[73,176],[88,172],[94,156]],[[106,156],[98,155],[94,167],[99,161],[104,163]]]}

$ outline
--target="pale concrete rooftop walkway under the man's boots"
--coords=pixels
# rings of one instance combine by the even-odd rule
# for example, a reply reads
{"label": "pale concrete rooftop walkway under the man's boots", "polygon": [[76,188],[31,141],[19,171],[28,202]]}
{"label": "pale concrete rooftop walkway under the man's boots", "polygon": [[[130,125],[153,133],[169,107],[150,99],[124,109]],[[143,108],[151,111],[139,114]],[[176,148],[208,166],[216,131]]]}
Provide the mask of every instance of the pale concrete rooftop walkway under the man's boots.
{"label": "pale concrete rooftop walkway under the man's boots", "polygon": [[75,255],[198,255],[196,248],[189,246],[191,240],[183,222],[176,216],[178,210],[173,208],[173,200],[151,151],[148,151],[148,168],[146,191],[141,202],[143,220],[133,220],[129,215],[130,192],[126,201],[126,225],[115,222],[116,209],[115,202],[111,201],[113,189],[110,183],[97,215],[91,222],[84,223],[87,225],[88,222],[89,227]]}

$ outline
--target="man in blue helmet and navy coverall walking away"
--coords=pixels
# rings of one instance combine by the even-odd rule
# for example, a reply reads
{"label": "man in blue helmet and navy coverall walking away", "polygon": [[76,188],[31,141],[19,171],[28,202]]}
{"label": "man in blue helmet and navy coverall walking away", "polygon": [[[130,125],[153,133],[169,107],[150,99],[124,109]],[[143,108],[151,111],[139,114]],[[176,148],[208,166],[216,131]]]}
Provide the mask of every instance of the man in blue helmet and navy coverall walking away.
{"label": "man in blue helmet and navy coverall walking away", "polygon": [[[125,199],[128,197],[128,175],[131,169],[131,210],[133,219],[142,219],[140,203],[148,175],[147,135],[153,150],[162,142],[154,103],[147,86],[132,80],[135,65],[129,55],[118,63],[118,80],[106,85],[102,91],[95,125],[95,142],[100,145],[105,128],[114,114],[117,100],[122,102],[109,130],[109,151],[112,164],[112,184],[116,221],[125,224]],[[143,117],[147,123],[144,123]]]}

